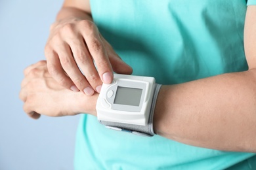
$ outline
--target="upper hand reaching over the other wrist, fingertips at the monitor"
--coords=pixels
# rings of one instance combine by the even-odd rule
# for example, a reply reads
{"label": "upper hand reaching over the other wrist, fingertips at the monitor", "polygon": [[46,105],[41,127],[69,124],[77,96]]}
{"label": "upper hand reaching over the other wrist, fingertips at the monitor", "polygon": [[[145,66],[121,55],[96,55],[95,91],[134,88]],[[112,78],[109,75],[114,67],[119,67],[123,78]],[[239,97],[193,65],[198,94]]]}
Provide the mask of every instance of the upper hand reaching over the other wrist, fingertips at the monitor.
{"label": "upper hand reaching over the other wrist, fingertips at the monitor", "polygon": [[49,73],[60,85],[87,95],[100,92],[102,82],[110,84],[113,71],[120,74],[133,71],[90,20],[68,18],[54,23],[45,56]]}

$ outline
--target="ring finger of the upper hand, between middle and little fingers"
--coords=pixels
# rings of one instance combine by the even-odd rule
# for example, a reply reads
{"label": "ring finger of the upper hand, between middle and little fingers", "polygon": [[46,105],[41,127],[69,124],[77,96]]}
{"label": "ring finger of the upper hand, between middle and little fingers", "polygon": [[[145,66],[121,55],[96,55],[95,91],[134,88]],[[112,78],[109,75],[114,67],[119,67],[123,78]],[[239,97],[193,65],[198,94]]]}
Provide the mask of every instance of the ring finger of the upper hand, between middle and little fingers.
{"label": "ring finger of the upper hand, between middle and little fingers", "polygon": [[[61,48],[65,48],[65,51]],[[70,46],[64,43],[61,48],[58,56],[60,58],[60,63],[64,71],[66,71],[68,76],[70,76],[71,80],[74,82],[75,86],[81,92],[84,92],[87,95],[93,95],[95,91],[93,90],[93,88],[91,88],[89,82],[87,82],[85,76],[83,76],[77,64],[75,63],[73,54],[70,50]]]}

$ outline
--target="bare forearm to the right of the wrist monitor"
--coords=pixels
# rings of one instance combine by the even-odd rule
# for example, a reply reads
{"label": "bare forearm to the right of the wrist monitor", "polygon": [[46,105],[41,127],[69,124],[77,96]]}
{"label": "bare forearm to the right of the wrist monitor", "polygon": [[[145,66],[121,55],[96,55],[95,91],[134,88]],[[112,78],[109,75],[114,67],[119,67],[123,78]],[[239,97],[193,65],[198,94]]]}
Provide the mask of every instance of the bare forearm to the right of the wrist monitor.
{"label": "bare forearm to the right of the wrist monitor", "polygon": [[256,152],[255,70],[163,86],[156,133],[194,146]]}

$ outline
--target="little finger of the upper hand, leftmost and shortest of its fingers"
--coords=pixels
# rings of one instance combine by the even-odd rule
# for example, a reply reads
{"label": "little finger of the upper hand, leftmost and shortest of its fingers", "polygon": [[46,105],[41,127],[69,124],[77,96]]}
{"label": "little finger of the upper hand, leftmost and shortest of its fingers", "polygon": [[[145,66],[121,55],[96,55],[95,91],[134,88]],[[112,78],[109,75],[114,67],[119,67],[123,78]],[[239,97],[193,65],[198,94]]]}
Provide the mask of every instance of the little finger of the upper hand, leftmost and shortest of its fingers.
{"label": "little finger of the upper hand, leftmost and shortest of its fingers", "polygon": [[[65,51],[64,51],[65,53]],[[70,89],[74,92],[79,92],[79,89],[74,85],[69,76],[67,76],[62,69],[58,54],[52,52],[47,57],[47,68],[51,76],[64,88]]]}

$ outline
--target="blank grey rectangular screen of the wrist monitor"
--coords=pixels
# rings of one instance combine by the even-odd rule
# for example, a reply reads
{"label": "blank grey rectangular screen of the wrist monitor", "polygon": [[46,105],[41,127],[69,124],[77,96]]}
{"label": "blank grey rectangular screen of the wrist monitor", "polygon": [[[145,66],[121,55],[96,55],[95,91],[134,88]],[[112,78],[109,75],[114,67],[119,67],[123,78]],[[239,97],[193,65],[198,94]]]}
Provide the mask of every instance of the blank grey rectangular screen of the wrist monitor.
{"label": "blank grey rectangular screen of the wrist monitor", "polygon": [[117,86],[114,104],[139,107],[141,95],[142,89],[140,88],[124,88]]}

